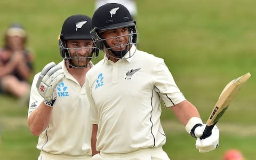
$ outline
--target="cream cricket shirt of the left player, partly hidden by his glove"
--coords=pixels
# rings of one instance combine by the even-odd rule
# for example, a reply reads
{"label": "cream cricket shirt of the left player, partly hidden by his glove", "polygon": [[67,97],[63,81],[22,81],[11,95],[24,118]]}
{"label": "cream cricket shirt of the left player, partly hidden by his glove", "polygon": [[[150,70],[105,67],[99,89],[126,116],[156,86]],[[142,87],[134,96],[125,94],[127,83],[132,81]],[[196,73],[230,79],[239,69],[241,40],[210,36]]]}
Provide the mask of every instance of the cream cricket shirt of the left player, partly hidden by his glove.
{"label": "cream cricket shirt of the left player, partly hidden by his glove", "polygon": [[[65,77],[57,86],[58,97],[52,118],[46,130],[39,135],[37,149],[51,154],[91,155],[92,124],[85,84],[81,87],[68,73],[65,61],[60,63]],[[31,87],[28,116],[43,101],[36,89],[39,74],[35,75]]]}

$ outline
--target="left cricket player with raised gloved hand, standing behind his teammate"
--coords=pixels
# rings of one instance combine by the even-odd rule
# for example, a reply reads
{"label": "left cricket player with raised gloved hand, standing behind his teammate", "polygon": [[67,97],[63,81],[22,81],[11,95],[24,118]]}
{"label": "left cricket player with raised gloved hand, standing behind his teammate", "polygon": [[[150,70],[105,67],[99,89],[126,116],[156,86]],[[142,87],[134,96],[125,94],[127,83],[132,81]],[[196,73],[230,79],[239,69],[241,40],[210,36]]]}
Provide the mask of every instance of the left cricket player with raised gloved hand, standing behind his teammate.
{"label": "left cricket player with raised gloved hand, standing behind his teammate", "polygon": [[38,159],[91,159],[92,124],[85,75],[95,53],[91,18],[76,14],[63,23],[62,61],[47,64],[34,77],[28,109],[31,133],[38,137]]}

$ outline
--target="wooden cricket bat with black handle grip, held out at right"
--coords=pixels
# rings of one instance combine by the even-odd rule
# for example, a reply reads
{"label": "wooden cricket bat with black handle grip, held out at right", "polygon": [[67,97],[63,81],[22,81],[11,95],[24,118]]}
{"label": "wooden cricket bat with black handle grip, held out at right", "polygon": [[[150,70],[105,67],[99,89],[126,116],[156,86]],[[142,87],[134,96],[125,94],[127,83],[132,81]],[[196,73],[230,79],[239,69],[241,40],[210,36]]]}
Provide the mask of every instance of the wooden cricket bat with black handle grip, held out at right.
{"label": "wooden cricket bat with black handle grip, held out at right", "polygon": [[247,73],[241,77],[238,77],[229,82],[220,94],[220,97],[214,106],[210,117],[206,122],[206,127],[201,139],[205,139],[212,134],[214,125],[219,121],[220,117],[225,113],[231,101],[235,98],[235,95],[242,89],[243,85],[251,77],[250,73]]}

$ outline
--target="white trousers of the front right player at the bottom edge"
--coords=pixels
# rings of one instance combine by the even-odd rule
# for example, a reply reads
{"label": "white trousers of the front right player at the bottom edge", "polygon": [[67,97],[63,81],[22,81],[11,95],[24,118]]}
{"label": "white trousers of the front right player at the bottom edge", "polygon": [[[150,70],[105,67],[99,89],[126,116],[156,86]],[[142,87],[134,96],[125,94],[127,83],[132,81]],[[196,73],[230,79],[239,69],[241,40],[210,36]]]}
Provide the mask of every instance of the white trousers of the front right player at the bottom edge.
{"label": "white trousers of the front right player at the bottom edge", "polygon": [[132,153],[94,155],[92,160],[170,160],[162,147],[145,148]]}

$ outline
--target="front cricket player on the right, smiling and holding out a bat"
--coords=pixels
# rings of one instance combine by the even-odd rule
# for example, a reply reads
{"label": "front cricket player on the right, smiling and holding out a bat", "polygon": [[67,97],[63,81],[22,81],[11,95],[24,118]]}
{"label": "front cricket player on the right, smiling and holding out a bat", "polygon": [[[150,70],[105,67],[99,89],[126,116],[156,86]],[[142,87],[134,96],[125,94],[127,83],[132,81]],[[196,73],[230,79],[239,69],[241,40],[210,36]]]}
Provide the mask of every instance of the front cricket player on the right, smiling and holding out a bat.
{"label": "front cricket player on the right, smiling and holding out a bat", "polygon": [[[170,159],[162,146],[161,100],[207,152],[218,147],[219,130],[200,139],[205,128],[195,106],[185,99],[161,58],[136,47],[137,29],[125,6],[105,4],[92,17],[91,35],[105,57],[86,75],[91,106],[92,159]],[[95,137],[94,137],[95,136]],[[97,154],[99,153],[99,154]]]}

